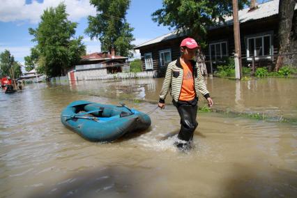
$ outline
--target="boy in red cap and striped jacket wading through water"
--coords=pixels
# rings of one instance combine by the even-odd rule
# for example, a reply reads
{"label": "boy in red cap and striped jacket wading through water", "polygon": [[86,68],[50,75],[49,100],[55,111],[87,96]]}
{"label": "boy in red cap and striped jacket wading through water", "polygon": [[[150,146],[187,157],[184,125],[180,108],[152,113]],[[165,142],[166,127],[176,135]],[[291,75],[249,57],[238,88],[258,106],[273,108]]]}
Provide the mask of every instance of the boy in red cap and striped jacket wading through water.
{"label": "boy in red cap and striped jacket wading through water", "polygon": [[167,66],[158,107],[165,108],[165,98],[170,90],[172,102],[181,117],[181,130],[178,133],[176,146],[181,150],[188,150],[198,125],[197,91],[208,100],[209,107],[213,106],[213,100],[206,89],[198,64],[193,61],[200,46],[193,38],[185,38],[181,41],[180,47],[181,57]]}

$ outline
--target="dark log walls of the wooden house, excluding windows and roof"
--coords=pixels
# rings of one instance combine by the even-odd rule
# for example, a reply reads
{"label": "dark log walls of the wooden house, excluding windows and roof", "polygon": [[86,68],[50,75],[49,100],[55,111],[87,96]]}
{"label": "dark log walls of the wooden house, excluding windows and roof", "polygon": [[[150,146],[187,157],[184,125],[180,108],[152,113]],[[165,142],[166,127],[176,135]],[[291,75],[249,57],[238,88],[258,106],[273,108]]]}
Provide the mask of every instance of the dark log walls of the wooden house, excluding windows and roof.
{"label": "dark log walls of the wooden house, excluding windows and roof", "polygon": [[[262,18],[259,20],[252,20],[250,22],[245,22],[240,26],[241,30],[241,56],[243,57],[242,62],[243,66],[248,66],[252,63],[251,60],[247,60],[247,36],[260,36],[264,33],[270,33],[272,35],[272,45],[273,45],[273,54],[278,53],[278,40],[277,40],[277,31],[278,31],[278,17],[277,15]],[[164,70],[165,68],[160,68],[160,50],[171,49],[172,50],[172,61],[177,59],[180,56],[179,45],[181,40],[185,37],[174,38],[171,40],[161,41],[160,43],[154,43],[152,45],[146,45],[139,47],[141,56],[142,56],[142,68],[145,70],[144,63],[144,54],[151,52],[153,55],[153,70]],[[205,49],[202,49],[202,52],[206,55],[206,65],[208,73],[210,73],[210,53],[209,53],[209,43],[216,43],[220,41],[227,41],[227,55],[234,55],[234,29],[233,26],[224,26],[219,29],[212,29],[208,31],[206,43],[208,43]],[[256,61],[256,66],[268,66],[272,68],[275,64],[276,58],[272,59],[259,59]],[[217,63],[218,64],[218,63]],[[214,66],[213,69],[215,69]]]}

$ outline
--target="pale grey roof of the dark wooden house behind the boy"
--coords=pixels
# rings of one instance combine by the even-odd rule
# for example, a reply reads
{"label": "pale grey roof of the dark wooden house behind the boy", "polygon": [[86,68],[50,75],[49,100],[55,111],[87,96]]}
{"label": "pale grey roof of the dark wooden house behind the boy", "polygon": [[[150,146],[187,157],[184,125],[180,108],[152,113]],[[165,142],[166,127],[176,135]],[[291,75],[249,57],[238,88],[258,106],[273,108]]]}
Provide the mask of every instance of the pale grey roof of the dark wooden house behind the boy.
{"label": "pale grey roof of the dark wooden house behind the boy", "polygon": [[[278,5],[280,0],[272,0],[266,3],[261,3],[258,5],[258,8],[249,12],[250,8],[245,8],[243,10],[238,11],[238,18],[241,23],[252,21],[252,20],[259,20],[265,17],[271,17],[272,15],[278,14]],[[297,4],[295,5],[295,10],[297,9]],[[233,24],[233,16],[225,17],[225,23],[219,24],[218,26],[212,26],[209,29],[216,29],[222,26],[229,26]],[[152,40],[148,40],[145,43],[137,45],[135,49],[139,47],[144,47],[146,45],[151,45],[154,43],[160,43],[162,40],[170,40],[172,38],[178,38],[184,36],[183,34],[178,35],[176,31],[172,31],[171,33],[167,33],[163,36],[158,38],[154,38]]]}

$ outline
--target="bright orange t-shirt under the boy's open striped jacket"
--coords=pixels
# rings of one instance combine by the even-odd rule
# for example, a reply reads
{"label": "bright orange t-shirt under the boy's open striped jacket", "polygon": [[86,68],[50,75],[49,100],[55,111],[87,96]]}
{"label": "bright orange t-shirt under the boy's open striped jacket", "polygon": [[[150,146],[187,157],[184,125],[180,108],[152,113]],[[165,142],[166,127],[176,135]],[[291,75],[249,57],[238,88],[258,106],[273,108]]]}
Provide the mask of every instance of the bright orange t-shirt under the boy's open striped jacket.
{"label": "bright orange t-shirt under the boy's open striped jacket", "polygon": [[191,63],[185,63],[182,59],[181,66],[183,66],[183,84],[181,85],[181,94],[178,100],[190,101],[193,100],[196,96],[195,86],[194,86],[194,77],[193,77],[193,68]]}

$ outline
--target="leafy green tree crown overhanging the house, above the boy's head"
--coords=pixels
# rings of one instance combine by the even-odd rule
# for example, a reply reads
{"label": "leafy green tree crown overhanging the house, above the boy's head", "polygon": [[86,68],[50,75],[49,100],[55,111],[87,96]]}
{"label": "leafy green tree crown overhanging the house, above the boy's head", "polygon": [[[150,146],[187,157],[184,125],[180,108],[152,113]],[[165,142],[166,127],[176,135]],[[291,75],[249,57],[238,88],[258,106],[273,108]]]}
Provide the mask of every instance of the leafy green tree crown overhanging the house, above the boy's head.
{"label": "leafy green tree crown overhanging the house, above the boy's head", "polygon": [[[239,0],[238,8],[247,3],[248,0]],[[224,22],[224,16],[231,15],[232,0],[164,0],[152,19],[204,43],[207,28]]]}

